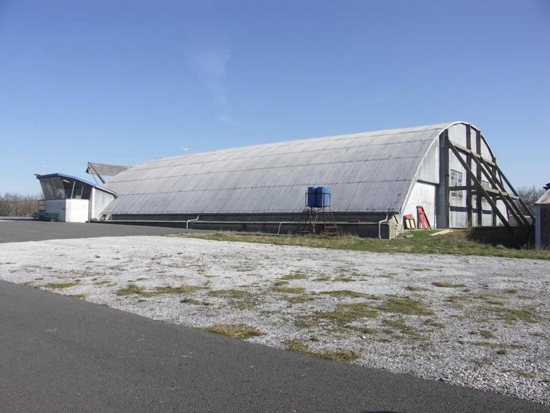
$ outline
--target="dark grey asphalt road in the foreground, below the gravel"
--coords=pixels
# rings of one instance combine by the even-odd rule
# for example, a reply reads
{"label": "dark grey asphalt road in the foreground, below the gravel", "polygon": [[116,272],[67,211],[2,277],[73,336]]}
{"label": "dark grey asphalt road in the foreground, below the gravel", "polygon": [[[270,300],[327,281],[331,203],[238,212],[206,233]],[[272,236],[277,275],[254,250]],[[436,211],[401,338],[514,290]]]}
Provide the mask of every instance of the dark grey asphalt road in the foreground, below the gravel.
{"label": "dark grey asphalt road in the foreground, below the gravel", "polygon": [[0,412],[549,412],[0,281]]}

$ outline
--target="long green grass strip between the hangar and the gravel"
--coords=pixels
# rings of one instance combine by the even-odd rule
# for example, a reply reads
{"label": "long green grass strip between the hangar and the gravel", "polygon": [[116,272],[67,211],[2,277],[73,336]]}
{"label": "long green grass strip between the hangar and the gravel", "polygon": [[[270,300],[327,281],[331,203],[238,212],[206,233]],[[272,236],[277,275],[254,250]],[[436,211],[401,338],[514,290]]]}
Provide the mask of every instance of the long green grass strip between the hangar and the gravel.
{"label": "long green grass strip between the hangar and the gravel", "polygon": [[[410,238],[399,237],[395,240],[378,240],[353,236],[320,238],[299,235],[268,235],[262,233],[235,233],[220,231],[206,234],[186,234],[187,237],[199,237],[206,240],[255,242],[260,244],[298,245],[318,248],[331,248],[353,251],[371,251],[375,253],[415,253],[415,254],[451,254],[483,255],[493,257],[530,258],[550,260],[550,251],[535,249],[506,248],[489,242],[474,240],[483,231],[454,230],[450,233],[430,237],[437,232],[410,231]],[[487,231],[489,232],[489,231]]]}

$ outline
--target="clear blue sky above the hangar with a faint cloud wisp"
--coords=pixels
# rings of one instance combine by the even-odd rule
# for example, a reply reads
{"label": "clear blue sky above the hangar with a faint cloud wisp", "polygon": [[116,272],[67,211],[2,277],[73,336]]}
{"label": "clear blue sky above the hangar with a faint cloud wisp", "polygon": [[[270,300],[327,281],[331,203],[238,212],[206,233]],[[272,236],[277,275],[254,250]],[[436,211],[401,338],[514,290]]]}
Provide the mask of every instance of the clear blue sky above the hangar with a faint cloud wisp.
{"label": "clear blue sky above the hangar with a faint cloud wisp", "polygon": [[547,0],[0,0],[0,192],[93,180],[87,161],[453,120],[540,187],[549,92]]}

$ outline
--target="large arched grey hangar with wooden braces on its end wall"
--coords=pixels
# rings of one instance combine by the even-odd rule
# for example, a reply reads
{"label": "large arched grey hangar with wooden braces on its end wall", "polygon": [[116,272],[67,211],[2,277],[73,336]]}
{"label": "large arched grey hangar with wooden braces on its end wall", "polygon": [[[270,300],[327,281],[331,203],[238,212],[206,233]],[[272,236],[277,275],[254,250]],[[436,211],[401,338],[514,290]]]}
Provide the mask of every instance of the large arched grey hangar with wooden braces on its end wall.
{"label": "large arched grey hangar with wooden braces on its end wall", "polygon": [[307,187],[329,187],[344,233],[395,237],[422,207],[432,228],[528,225],[481,131],[465,122],[159,158],[120,171],[100,220],[293,232]]}

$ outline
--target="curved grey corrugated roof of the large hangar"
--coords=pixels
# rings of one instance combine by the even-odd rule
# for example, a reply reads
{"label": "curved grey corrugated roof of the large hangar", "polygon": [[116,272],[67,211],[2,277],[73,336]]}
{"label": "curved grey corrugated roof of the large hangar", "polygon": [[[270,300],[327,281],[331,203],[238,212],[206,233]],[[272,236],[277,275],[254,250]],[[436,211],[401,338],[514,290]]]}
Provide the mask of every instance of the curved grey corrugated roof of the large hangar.
{"label": "curved grey corrugated roof of the large hangar", "polygon": [[401,211],[428,149],[451,123],[276,142],[144,162],[105,188],[112,214],[296,213],[326,186],[338,212]]}

